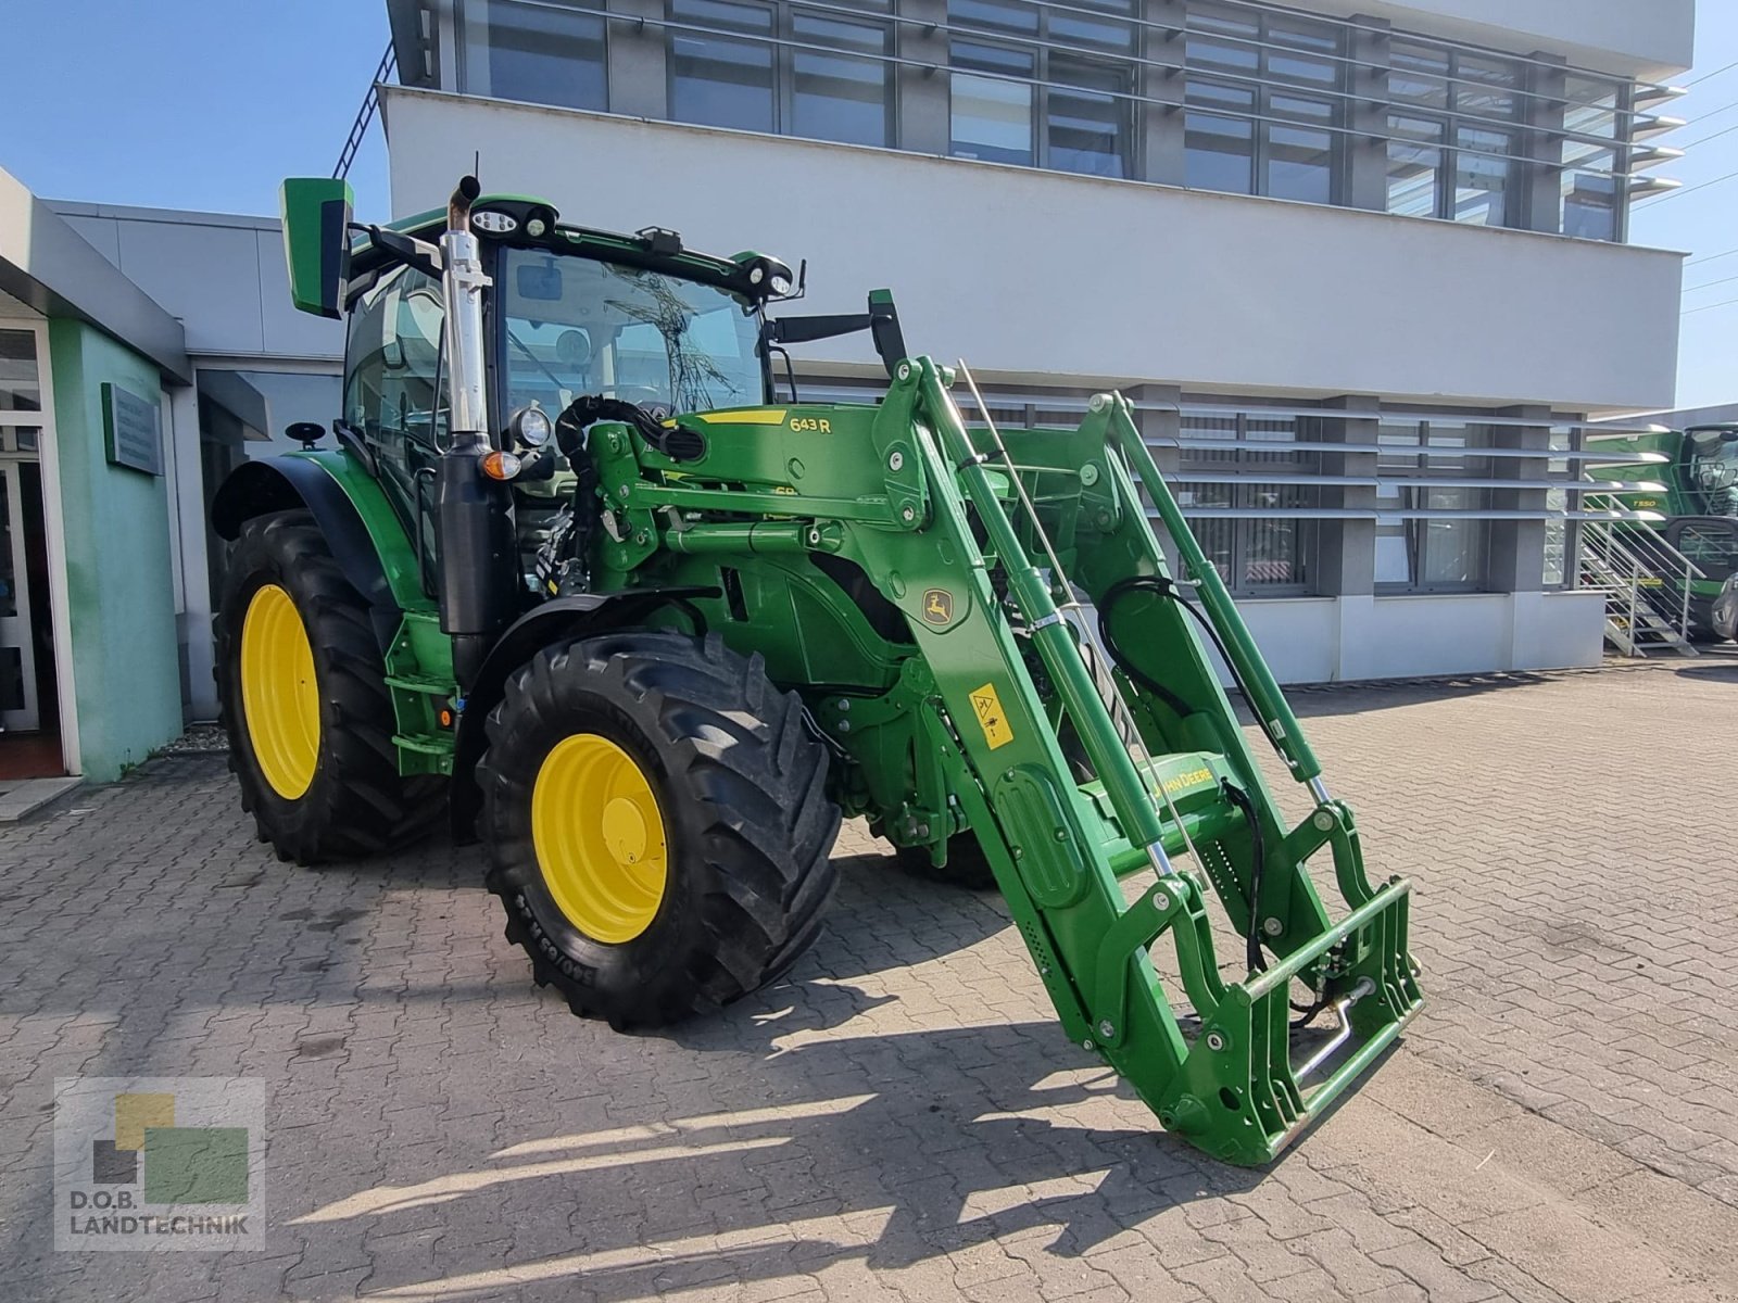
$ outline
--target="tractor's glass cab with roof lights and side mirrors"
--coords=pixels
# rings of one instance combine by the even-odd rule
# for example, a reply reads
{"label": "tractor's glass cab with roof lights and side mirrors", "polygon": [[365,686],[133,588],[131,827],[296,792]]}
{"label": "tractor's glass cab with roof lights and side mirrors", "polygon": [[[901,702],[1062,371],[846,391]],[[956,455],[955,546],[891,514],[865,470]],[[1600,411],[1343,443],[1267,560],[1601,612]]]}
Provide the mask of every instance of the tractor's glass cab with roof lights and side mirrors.
{"label": "tractor's glass cab with roof lights and side mirrors", "polygon": [[[327,181],[287,182],[283,203],[295,304],[348,320],[334,431],[417,542],[433,596],[443,554],[436,485],[457,429],[436,245],[450,214],[358,226],[348,189]],[[337,240],[339,229],[349,238]],[[699,254],[662,228],[619,235],[568,226],[542,200],[499,195],[471,203],[468,233],[481,339],[466,349],[483,360],[487,410],[462,426],[483,434],[485,471],[511,490],[506,528],[527,598],[568,591],[553,575],[594,514],[579,453],[596,420],[627,420],[662,445],[680,436],[680,417],[765,408],[780,387],[794,401],[786,344],[867,330],[890,374],[904,358],[885,290],[860,314],[770,318],[770,306],[799,299],[805,287],[765,254]],[[775,354],[786,356],[782,384]]]}

